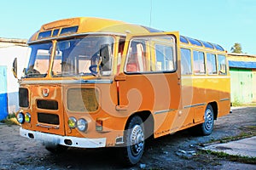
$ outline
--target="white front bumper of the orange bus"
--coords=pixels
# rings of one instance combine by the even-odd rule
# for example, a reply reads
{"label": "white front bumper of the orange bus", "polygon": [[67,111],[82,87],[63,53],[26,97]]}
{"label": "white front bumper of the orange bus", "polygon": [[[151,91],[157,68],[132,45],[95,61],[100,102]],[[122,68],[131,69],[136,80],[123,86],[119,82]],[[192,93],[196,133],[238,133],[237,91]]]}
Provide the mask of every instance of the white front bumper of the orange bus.
{"label": "white front bumper of the orange bus", "polygon": [[50,133],[41,133],[31,130],[26,130],[20,127],[20,136],[28,139],[36,139],[44,144],[61,144],[77,148],[102,148],[106,146],[106,138],[102,139],[86,139],[70,136],[60,136]]}

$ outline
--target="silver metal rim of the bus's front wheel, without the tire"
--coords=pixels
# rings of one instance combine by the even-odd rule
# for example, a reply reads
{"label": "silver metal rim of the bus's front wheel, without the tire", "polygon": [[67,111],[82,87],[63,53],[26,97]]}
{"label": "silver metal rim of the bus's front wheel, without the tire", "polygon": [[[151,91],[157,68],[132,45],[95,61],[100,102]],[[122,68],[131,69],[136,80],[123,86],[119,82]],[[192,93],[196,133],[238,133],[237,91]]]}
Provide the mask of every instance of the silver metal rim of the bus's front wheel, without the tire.
{"label": "silver metal rim of the bus's front wheel, without the tire", "polygon": [[131,154],[138,156],[144,148],[144,133],[143,128],[135,125],[131,129]]}

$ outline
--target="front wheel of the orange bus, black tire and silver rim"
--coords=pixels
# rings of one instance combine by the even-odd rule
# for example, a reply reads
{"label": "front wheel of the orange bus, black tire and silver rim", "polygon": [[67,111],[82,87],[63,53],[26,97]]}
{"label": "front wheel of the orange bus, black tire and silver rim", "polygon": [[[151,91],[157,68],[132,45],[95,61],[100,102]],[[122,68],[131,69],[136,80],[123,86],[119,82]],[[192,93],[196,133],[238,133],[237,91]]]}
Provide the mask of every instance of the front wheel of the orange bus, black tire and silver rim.
{"label": "front wheel of the orange bus, black tire and silver rim", "polygon": [[139,116],[134,116],[128,122],[125,130],[125,164],[135,165],[143,156],[145,139],[143,120]]}

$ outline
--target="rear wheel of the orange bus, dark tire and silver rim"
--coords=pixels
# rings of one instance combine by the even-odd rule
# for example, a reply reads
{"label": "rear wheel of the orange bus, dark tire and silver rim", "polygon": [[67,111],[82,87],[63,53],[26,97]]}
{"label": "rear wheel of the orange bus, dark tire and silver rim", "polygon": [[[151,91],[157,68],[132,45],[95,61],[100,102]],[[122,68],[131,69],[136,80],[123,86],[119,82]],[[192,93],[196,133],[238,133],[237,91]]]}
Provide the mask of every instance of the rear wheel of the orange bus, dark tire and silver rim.
{"label": "rear wheel of the orange bus, dark tire and silver rim", "polygon": [[197,125],[195,127],[192,127],[191,132],[194,135],[207,136],[212,133],[213,125],[214,125],[214,113],[212,110],[212,105],[207,105],[204,119],[205,119],[205,122],[203,122],[200,125]]}

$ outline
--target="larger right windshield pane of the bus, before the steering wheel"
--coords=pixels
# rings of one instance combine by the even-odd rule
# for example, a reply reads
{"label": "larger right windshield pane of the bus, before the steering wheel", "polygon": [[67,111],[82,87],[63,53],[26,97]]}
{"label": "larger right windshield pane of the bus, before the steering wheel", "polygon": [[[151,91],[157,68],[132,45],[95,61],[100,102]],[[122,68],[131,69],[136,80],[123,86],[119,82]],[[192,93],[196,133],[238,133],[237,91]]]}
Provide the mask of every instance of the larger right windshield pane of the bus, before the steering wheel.
{"label": "larger right windshield pane of the bus, before the steering wheel", "polygon": [[52,77],[112,73],[113,37],[87,36],[56,42]]}

